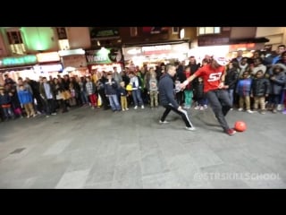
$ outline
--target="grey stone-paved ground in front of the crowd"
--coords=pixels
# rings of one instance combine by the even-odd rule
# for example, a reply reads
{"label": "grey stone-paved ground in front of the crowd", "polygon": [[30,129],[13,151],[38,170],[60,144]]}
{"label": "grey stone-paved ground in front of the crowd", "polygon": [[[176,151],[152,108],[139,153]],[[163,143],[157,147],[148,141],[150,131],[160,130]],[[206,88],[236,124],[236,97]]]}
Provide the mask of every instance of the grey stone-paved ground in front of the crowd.
{"label": "grey stone-paved ground in front of the crowd", "polygon": [[113,113],[80,107],[0,123],[0,188],[286,188],[286,116],[231,111],[228,136],[211,110],[184,130],[164,108]]}

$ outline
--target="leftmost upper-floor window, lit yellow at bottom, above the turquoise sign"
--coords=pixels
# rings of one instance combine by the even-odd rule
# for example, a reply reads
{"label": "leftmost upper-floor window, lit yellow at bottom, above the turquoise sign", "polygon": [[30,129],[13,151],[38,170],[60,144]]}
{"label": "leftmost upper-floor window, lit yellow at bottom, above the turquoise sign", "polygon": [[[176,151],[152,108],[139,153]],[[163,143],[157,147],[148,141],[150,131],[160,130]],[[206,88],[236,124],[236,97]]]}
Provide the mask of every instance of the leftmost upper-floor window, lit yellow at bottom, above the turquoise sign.
{"label": "leftmost upper-floor window, lit yellow at bottom, above the turquoise sign", "polygon": [[12,53],[16,55],[26,54],[26,48],[21,39],[21,32],[19,30],[7,31],[6,34]]}

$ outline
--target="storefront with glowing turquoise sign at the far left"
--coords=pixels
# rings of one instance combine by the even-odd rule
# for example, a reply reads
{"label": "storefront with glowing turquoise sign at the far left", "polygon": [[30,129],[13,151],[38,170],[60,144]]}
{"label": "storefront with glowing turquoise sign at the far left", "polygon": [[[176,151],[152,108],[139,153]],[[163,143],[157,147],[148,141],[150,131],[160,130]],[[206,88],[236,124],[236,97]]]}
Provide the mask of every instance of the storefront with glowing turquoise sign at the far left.
{"label": "storefront with glowing turquoise sign at the far left", "polygon": [[37,64],[37,56],[10,56],[0,59],[0,84],[4,84],[4,73],[17,82],[18,78],[33,77],[33,65]]}

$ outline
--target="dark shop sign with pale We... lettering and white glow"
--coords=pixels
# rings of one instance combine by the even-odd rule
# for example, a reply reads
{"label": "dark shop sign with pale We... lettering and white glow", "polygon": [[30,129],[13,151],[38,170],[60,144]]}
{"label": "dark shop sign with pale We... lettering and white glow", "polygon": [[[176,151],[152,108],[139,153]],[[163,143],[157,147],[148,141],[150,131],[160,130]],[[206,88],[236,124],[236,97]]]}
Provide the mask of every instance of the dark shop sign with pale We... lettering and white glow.
{"label": "dark shop sign with pale We... lettering and white glow", "polygon": [[105,48],[86,51],[88,64],[112,64],[122,62],[122,51],[120,48]]}

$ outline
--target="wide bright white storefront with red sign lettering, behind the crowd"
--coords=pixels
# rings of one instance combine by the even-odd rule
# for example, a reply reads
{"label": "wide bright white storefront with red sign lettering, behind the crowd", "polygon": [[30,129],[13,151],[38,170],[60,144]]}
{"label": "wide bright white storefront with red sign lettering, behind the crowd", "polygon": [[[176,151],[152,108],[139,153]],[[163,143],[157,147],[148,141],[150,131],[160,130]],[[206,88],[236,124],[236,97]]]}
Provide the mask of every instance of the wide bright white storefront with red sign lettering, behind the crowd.
{"label": "wide bright white storefront with red sign lettering, behind the crowd", "polygon": [[125,66],[139,65],[141,67],[143,64],[147,64],[148,67],[154,67],[160,63],[168,64],[186,60],[188,58],[189,43],[122,47],[122,51]]}

